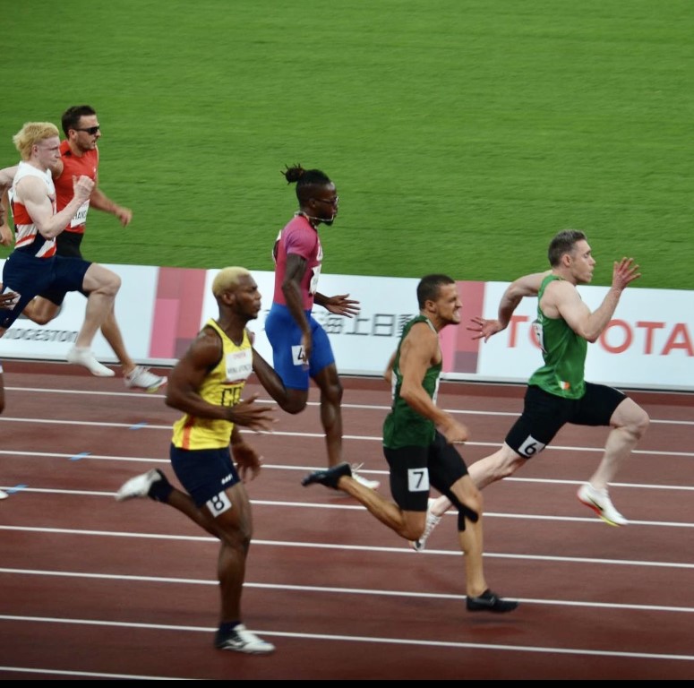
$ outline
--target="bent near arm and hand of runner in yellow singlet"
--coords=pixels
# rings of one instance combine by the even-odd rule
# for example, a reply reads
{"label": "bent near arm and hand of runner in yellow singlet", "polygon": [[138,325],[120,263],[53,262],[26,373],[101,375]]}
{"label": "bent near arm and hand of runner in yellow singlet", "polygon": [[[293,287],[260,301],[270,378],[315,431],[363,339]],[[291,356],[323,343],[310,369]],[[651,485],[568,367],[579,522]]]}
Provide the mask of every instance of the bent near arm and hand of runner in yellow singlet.
{"label": "bent near arm and hand of runner in yellow singlet", "polygon": [[257,395],[235,406],[218,406],[202,399],[200,388],[210,366],[222,356],[222,343],[216,332],[203,330],[193,341],[168,378],[167,406],[191,416],[228,420],[252,430],[270,430],[272,409],[254,403]]}

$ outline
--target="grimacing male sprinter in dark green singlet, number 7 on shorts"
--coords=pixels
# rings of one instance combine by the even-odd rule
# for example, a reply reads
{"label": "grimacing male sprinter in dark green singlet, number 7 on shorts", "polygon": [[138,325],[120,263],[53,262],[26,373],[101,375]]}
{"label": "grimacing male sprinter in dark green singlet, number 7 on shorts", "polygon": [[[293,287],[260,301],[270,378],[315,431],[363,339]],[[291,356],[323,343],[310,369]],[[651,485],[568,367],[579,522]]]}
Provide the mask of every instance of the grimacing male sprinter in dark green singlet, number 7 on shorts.
{"label": "grimacing male sprinter in dark green singlet, number 7 on shorts", "polygon": [[482,495],[467,475],[454,444],[467,441],[467,427],[436,405],[441,374],[439,332],[460,323],[458,287],[448,275],[427,275],[417,286],[419,315],[405,325],[386,371],[392,407],[383,424],[383,453],[390,467],[395,503],[361,485],[348,463],[304,477],[344,490],[401,538],[420,538],[426,528],[429,486],[458,508],[458,544],[465,555],[467,610],[510,612],[515,600],[487,587],[482,565]]}

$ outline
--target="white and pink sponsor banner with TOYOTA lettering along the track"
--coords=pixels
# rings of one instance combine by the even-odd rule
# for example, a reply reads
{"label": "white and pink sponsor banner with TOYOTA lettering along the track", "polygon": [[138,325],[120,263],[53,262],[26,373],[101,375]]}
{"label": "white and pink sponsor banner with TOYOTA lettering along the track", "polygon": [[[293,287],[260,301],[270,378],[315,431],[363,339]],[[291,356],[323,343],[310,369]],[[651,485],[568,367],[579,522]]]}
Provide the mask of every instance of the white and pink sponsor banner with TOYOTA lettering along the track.
{"label": "white and pink sponsor banner with TOYOTA lettering along the track", "polygon": [[[181,357],[197,332],[218,314],[210,285],[218,271],[107,265],[123,286],[116,298],[116,319],[126,348],[138,363],[169,366]],[[263,324],[270,308],[273,273],[253,271],[263,309],[249,323],[255,346],[270,363],[272,352]],[[360,302],[355,318],[332,315],[320,306],[314,316],[328,331],[340,374],[380,375],[398,344],[404,323],[418,313],[416,278],[321,275],[322,294],[349,294]],[[444,377],[525,383],[542,357],[532,336],[536,299],[524,299],[507,330],[484,343],[467,331],[476,315],[493,318],[506,282],[458,282],[462,323],[441,332]],[[595,309],[606,287],[579,287]],[[23,318],[0,339],[2,358],[64,360],[84,317],[85,299],[69,294],[56,319],[39,326]],[[116,363],[107,341],[93,345],[104,363]],[[587,380],[624,388],[694,391],[694,292],[629,288],[600,340],[588,346]]]}

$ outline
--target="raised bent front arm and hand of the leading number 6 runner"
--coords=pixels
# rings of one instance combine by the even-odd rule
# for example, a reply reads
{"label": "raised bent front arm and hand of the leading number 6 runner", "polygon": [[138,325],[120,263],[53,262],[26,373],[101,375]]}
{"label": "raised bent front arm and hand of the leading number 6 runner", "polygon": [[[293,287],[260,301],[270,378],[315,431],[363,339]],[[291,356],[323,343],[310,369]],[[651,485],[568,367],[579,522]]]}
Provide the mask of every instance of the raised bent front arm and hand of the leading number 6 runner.
{"label": "raised bent front arm and hand of the leading number 6 runner", "polygon": [[[561,317],[569,324],[571,330],[585,340],[594,342],[603,333],[612,320],[621,292],[641,273],[633,258],[622,258],[613,264],[613,283],[603,303],[593,313],[578,295],[578,290],[567,282],[553,282],[548,288],[548,305],[556,308]],[[544,307],[544,299],[543,299]]]}

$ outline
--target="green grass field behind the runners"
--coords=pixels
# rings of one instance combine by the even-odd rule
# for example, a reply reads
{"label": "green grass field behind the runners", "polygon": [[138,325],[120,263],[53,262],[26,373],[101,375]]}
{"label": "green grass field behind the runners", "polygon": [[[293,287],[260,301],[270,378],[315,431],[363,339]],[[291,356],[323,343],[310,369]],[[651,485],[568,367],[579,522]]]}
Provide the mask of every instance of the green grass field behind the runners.
{"label": "green grass field behind the runners", "polygon": [[[690,0],[31,0],[2,13],[0,166],[99,112],[99,262],[271,270],[280,169],[338,186],[323,271],[511,280],[581,228],[608,284],[694,289]],[[78,39],[79,37],[79,39]],[[0,256],[8,253],[0,251]]]}

